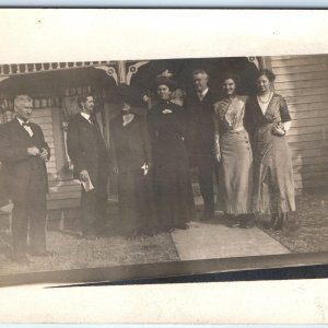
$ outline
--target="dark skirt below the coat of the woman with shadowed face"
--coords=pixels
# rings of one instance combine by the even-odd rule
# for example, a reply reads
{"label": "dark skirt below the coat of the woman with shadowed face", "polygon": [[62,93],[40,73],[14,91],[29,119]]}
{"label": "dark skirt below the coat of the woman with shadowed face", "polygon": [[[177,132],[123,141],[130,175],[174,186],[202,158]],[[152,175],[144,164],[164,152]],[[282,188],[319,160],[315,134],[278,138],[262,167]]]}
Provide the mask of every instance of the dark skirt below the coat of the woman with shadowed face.
{"label": "dark skirt below the coat of the woman with shadowed face", "polygon": [[136,169],[118,176],[119,229],[124,233],[156,225],[150,176]]}

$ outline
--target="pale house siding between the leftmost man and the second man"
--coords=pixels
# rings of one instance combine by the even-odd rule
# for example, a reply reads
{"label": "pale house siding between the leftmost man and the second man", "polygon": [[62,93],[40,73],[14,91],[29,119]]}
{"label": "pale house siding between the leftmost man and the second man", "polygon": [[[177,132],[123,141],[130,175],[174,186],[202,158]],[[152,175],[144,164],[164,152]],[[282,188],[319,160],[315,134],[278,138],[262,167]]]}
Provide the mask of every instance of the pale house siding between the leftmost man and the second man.
{"label": "pale house siding between the leftmost man and the second man", "polygon": [[51,157],[49,162],[47,162],[47,172],[49,179],[49,194],[47,196],[48,210],[79,207],[81,195],[80,184],[72,179],[62,180],[57,169],[57,156],[59,156],[60,154],[56,153],[55,151],[55,149],[58,150],[58,148],[55,148],[56,138],[54,138],[54,125],[58,125],[59,122],[52,121],[50,108],[35,109],[33,112],[32,121],[42,127],[45,139],[51,150]]}

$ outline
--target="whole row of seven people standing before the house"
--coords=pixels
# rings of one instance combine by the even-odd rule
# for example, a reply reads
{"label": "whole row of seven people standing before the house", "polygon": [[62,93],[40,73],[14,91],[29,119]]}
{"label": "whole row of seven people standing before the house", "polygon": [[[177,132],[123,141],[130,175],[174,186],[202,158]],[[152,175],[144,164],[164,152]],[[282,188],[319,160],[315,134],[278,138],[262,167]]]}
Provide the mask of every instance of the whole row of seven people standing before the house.
{"label": "whole row of seven people standing before the house", "polygon": [[[192,72],[194,92],[176,104],[177,85],[167,77],[153,83],[157,97],[149,109],[144,94],[119,89],[120,113],[110,120],[106,149],[92,95],[79,96],[80,113],[71,118],[67,150],[74,178],[81,181],[81,222],[86,239],[106,229],[107,177],[118,177],[116,226],[129,236],[188,229],[195,203],[190,167],[197,167],[203,213],[215,210],[231,226],[250,227],[257,213],[271,214],[281,230],[295,210],[292,160],[285,134],[291,117],[284,98],[272,91],[274,74],[259,70],[258,92],[237,93],[239,78],[226,74],[219,97],[204,70]],[[45,256],[47,174],[50,150],[42,129],[30,122],[32,99],[19,95],[16,118],[0,127],[0,161],[13,200],[13,258]],[[219,183],[216,204],[214,181]],[[27,247],[27,225],[30,246]]]}

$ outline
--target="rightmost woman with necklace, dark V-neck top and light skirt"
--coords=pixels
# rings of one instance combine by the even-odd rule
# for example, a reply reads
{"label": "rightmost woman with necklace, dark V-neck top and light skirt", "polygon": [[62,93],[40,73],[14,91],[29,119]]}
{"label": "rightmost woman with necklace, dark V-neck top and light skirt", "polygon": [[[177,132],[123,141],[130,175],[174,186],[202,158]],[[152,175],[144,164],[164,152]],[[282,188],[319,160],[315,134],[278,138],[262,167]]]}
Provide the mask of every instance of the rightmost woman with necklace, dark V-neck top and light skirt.
{"label": "rightmost woman with necklace, dark V-neck top and light skirt", "polygon": [[285,99],[271,90],[274,74],[260,70],[258,93],[247,102],[253,127],[255,188],[254,210],[271,214],[273,230],[282,230],[288,213],[295,211],[293,165],[288,140],[291,116]]}

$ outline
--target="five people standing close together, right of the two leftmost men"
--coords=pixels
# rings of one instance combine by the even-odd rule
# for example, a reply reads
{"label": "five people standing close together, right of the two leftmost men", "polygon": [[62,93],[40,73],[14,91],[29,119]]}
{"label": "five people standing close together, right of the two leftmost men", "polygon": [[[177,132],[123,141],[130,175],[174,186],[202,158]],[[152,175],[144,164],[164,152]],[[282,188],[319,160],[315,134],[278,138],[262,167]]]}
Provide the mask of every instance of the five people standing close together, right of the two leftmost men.
{"label": "five people standing close together, right of the two leftmost men", "polygon": [[272,229],[281,230],[295,200],[285,138],[291,117],[284,98],[272,91],[274,78],[259,70],[257,94],[243,96],[239,78],[227,73],[219,98],[209,89],[208,73],[196,70],[195,92],[183,106],[172,98],[176,84],[168,78],[155,81],[157,102],[147,113],[137,113],[142,104],[126,98],[110,128],[121,226],[132,233],[187,229],[195,218],[189,168],[197,167],[204,203],[200,220],[214,219],[216,209],[231,226],[247,229],[263,213],[271,214]]}

